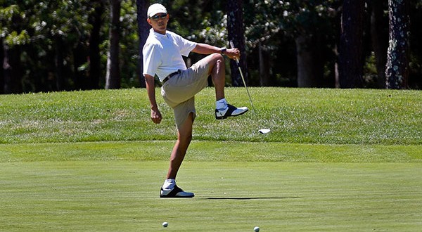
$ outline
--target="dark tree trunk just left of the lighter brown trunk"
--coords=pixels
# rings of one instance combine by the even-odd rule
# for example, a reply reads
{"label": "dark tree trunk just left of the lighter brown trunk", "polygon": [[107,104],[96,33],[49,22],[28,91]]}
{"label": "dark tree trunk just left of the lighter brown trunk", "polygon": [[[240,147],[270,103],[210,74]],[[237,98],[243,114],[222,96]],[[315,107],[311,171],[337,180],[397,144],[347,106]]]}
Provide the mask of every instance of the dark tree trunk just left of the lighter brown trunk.
{"label": "dark tree trunk just left of the lighter brown trunk", "polygon": [[89,83],[88,89],[98,89],[101,77],[101,56],[100,56],[100,30],[103,25],[104,2],[103,0],[92,2],[94,11],[89,15],[89,24],[92,25],[91,36],[89,37]]}

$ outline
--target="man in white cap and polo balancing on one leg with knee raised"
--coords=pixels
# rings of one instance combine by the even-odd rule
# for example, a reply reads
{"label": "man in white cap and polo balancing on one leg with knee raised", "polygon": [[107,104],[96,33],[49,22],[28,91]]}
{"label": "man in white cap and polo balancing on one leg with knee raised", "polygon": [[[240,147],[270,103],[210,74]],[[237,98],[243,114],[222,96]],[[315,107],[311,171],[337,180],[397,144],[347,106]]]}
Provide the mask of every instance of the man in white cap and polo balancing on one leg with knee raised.
{"label": "man in white cap and polo balancing on one leg with knee raised", "polygon": [[[215,118],[221,120],[247,112],[246,107],[229,105],[224,96],[226,74],[222,55],[234,59],[240,57],[240,52],[235,48],[198,44],[167,31],[170,16],[161,4],[151,5],[147,16],[152,28],[142,53],[143,75],[151,103],[151,120],[156,124],[162,120],[155,101],[154,77],[157,75],[162,82],[161,95],[173,109],[177,127],[177,141],[170,157],[167,179],[160,190],[160,198],[193,198],[193,193],[185,192],[176,185],[176,176],[192,139],[192,125],[196,117],[194,97],[207,86],[207,77],[211,75],[215,86]],[[209,56],[187,68],[181,56],[188,56],[191,51]]]}

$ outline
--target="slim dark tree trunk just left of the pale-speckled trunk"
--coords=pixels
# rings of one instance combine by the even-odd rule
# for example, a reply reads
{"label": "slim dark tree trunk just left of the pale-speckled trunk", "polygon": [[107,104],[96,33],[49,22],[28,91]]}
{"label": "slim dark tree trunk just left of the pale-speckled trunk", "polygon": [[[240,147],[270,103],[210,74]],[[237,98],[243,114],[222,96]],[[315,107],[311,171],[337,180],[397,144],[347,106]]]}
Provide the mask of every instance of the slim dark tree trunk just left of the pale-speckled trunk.
{"label": "slim dark tree trunk just left of the pale-speckled trunk", "polygon": [[385,89],[385,64],[387,63],[387,56],[385,53],[388,49],[388,34],[385,28],[387,27],[387,20],[384,20],[384,0],[369,1],[371,4],[371,40],[372,48],[376,58],[376,72],[377,72],[377,86],[380,89]]}

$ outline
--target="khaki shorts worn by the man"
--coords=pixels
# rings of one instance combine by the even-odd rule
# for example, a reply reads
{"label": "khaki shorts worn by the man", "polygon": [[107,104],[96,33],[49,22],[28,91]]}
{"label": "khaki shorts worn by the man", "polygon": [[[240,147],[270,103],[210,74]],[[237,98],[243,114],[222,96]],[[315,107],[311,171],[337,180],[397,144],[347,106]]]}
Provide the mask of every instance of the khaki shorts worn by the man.
{"label": "khaki shorts worn by the man", "polygon": [[179,70],[179,74],[171,77],[161,87],[161,95],[167,105],[174,111],[174,121],[179,129],[189,113],[196,117],[195,95],[208,86],[209,65],[203,60],[187,70]]}

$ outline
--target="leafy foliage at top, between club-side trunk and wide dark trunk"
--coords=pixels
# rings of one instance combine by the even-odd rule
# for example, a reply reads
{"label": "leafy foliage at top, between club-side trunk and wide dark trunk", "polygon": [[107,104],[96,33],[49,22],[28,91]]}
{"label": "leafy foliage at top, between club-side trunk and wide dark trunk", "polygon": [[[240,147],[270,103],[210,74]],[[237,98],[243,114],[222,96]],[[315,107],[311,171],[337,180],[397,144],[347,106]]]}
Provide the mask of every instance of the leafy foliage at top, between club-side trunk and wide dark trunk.
{"label": "leafy foliage at top, between club-side trunk and wide dark trunk", "polygon": [[324,33],[339,1],[249,1],[245,7],[246,36],[250,46],[279,35]]}

